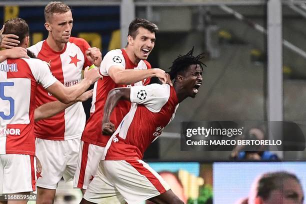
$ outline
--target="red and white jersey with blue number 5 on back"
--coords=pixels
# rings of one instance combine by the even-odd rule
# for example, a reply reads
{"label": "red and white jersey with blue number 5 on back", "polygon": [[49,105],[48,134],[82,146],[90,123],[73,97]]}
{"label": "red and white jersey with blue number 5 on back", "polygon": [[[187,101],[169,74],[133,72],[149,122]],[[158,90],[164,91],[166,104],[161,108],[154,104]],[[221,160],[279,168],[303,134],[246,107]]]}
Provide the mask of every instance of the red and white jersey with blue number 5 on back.
{"label": "red and white jersey with blue number 5 on back", "polygon": [[37,83],[56,81],[39,59],[7,59],[0,63],[0,154],[35,155],[34,109]]}

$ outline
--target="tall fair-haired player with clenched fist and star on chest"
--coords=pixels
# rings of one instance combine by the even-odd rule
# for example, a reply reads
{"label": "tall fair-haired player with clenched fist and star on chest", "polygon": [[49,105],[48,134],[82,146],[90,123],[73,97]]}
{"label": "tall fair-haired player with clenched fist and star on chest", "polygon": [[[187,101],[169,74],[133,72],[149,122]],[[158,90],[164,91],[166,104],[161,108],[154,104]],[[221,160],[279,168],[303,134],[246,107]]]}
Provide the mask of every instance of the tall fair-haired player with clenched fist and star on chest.
{"label": "tall fair-haired player with clenched fist and star on chest", "polygon": [[[68,5],[50,2],[44,8],[44,17],[48,36],[28,49],[50,65],[52,74],[64,86],[77,84],[82,69],[92,64],[100,65],[101,52],[89,47],[84,39],[70,37],[73,18]],[[54,100],[51,93],[38,86],[36,107]],[[35,122],[36,155],[43,166],[37,179],[37,203],[52,203],[61,177],[65,181],[73,179],[84,125],[81,102],[49,119]]]}

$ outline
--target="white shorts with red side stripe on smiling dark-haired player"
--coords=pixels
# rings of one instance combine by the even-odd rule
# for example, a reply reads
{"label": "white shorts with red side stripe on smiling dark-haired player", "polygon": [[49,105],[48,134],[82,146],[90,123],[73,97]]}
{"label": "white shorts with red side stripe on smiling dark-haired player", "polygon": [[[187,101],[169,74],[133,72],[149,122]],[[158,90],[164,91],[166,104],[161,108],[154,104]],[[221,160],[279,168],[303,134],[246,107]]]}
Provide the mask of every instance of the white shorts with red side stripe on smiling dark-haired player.
{"label": "white shorts with red side stripe on smiling dark-haired player", "polygon": [[80,141],[73,187],[86,189],[93,179],[105,147]]}

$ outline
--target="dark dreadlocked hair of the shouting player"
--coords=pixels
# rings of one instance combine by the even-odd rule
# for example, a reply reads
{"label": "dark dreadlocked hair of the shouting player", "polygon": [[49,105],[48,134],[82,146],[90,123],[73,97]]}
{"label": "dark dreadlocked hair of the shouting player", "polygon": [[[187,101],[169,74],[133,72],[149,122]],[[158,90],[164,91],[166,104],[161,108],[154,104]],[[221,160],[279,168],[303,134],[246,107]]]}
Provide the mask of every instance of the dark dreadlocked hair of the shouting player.
{"label": "dark dreadlocked hair of the shouting player", "polygon": [[193,56],[193,48],[194,47],[192,47],[192,49],[188,51],[185,55],[179,54],[177,58],[172,62],[172,66],[169,67],[170,71],[167,72],[168,74],[170,74],[171,80],[175,78],[178,73],[185,71],[191,64],[199,64],[202,70],[202,65],[206,66],[206,64],[200,61],[200,59],[204,57],[202,56],[203,53],[200,53],[197,56]]}

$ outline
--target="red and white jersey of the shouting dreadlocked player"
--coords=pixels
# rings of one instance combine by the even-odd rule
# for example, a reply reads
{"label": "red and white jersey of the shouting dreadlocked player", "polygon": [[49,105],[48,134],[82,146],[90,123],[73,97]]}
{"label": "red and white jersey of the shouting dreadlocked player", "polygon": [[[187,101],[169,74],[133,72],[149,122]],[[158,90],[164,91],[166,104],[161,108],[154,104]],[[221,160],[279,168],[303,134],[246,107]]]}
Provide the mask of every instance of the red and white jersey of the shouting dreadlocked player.
{"label": "red and white jersey of the shouting dreadlocked player", "polygon": [[178,99],[169,84],[150,84],[130,88],[129,112],[108,140],[103,159],[142,159],[146,148],[174,118]]}

